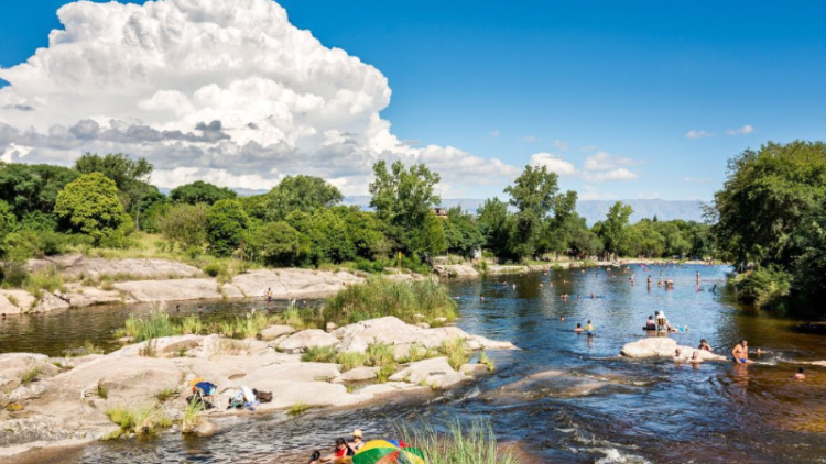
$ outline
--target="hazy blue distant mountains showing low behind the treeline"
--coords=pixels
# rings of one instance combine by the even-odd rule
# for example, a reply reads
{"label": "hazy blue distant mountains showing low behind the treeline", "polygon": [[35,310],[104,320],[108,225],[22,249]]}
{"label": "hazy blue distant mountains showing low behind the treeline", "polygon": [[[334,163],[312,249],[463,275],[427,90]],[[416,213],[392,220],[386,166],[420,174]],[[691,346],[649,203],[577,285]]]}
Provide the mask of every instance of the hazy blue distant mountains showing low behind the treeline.
{"label": "hazy blue distant mountains showing low behind the treeline", "polygon": [[[619,201],[631,205],[631,208],[633,208],[634,212],[631,214],[632,223],[643,218],[653,218],[654,216],[661,221],[682,219],[685,221],[703,222],[703,209],[700,208],[700,202],[696,200],[637,199]],[[588,225],[593,225],[595,222],[605,219],[608,210],[616,202],[617,200],[579,200],[576,202],[576,210],[579,216],[585,218]],[[344,203],[367,209],[370,206],[370,197],[366,195],[345,197]],[[485,203],[485,200],[477,198],[443,198],[441,206],[445,208],[461,206],[466,210],[476,211],[482,203]]]}

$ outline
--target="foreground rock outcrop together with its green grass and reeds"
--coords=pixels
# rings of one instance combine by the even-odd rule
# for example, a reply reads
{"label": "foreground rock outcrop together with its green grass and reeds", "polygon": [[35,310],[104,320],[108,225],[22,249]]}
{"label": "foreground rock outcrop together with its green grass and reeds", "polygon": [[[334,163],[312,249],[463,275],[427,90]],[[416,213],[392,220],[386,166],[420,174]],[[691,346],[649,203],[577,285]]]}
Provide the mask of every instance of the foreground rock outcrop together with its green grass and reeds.
{"label": "foreground rock outcrop together with its green grass and reeds", "polygon": [[[0,354],[0,371],[18,373],[1,385],[9,433],[0,445],[18,453],[37,448],[44,440],[37,430],[47,430],[48,442],[61,443],[209,435],[221,417],[249,413],[222,411],[227,398],[244,385],[274,394],[257,411],[291,417],[319,407],[359,407],[388,395],[430,397],[493,372],[491,355],[514,349],[450,327],[456,309],[447,289],[433,279],[373,277],[341,289],[317,309],[250,312],[218,325],[197,318],[174,320],[157,308],[144,318],[130,318],[115,335],[130,338],[130,344],[108,354]],[[217,410],[183,400],[196,379],[218,385]],[[73,420],[63,420],[52,401],[59,401],[59,410]],[[436,440],[432,430],[423,431],[423,440]],[[460,455],[455,453],[464,453],[465,444],[492,439],[489,428],[477,426],[463,431],[455,424],[450,433],[459,448],[433,452]],[[491,443],[492,451],[485,453],[493,461],[482,462],[509,455],[497,451],[494,442],[487,445]]]}

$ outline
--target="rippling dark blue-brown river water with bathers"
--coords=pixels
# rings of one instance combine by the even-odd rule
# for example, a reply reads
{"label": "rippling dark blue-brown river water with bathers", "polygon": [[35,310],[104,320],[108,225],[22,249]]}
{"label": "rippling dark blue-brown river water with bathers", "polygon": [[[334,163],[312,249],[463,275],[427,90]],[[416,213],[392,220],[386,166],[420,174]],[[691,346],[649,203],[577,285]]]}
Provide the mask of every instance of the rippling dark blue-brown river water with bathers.
{"label": "rippling dark blue-brown river water with bathers", "polygon": [[[489,420],[501,442],[519,445],[537,463],[826,462],[826,368],[805,366],[807,379],[790,378],[797,363],[826,360],[826,338],[798,331],[800,321],[738,308],[725,288],[727,272],[721,266],[634,266],[627,274],[591,268],[453,281],[459,327],[522,349],[493,353],[497,372],[480,382],[425,404],[398,400],[361,410],[315,410],[298,418],[275,413],[229,419],[226,431],[210,439],[172,434],[96,443],[66,462],[304,463],[313,449],[332,448],[335,438],[354,428],[365,430],[368,439],[387,437],[393,422],[417,418]],[[634,286],[628,279],[631,273]],[[661,273],[674,280],[674,289],[656,286]],[[559,298],[563,292],[572,296],[567,302]],[[211,308],[241,311],[258,303],[222,305]],[[122,310],[121,322],[132,310]],[[671,335],[680,344],[696,346],[706,339],[717,352],[728,353],[746,339],[752,350],[768,354],[753,356],[758,363],[748,367],[619,357],[623,344],[645,336],[641,327],[654,310],[664,310],[673,324],[688,327]],[[51,317],[104,318],[95,311]],[[100,342],[95,333],[119,327],[112,313],[107,316],[113,318],[111,329],[89,329],[84,336]],[[22,338],[42,336],[37,330],[50,322],[40,321],[51,317],[34,317],[34,331]],[[576,322],[587,319],[596,325],[594,338],[573,332]],[[9,330],[9,320],[3,323]],[[55,333],[68,325],[51,324],[61,327]]]}

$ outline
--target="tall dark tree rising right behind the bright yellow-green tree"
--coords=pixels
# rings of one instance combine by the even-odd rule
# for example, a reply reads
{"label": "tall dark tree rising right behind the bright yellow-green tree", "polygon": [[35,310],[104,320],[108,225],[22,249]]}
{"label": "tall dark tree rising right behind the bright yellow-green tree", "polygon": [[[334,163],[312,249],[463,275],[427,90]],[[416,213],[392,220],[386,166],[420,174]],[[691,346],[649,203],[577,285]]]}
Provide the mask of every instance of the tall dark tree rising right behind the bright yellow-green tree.
{"label": "tall dark tree rising right behind the bright yellow-green tree", "polygon": [[145,158],[132,159],[122,153],[100,156],[85,153],[75,161],[75,169],[80,174],[100,173],[115,180],[119,190],[119,198],[126,211],[134,216],[135,229],[141,229],[141,212],[144,197],[157,192],[157,188],[149,185],[149,177],[154,166]]}

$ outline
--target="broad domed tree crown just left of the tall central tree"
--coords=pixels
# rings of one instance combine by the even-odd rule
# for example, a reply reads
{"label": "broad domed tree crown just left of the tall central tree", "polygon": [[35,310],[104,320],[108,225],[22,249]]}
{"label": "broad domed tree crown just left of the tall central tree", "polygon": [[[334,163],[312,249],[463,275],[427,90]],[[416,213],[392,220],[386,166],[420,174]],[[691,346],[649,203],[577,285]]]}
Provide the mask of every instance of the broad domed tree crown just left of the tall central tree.
{"label": "broad domed tree crown just left of the tall central tree", "polygon": [[332,208],[344,199],[335,186],[320,177],[286,176],[275,188],[264,195],[259,206],[263,219],[280,221],[293,211],[312,213],[319,208]]}

